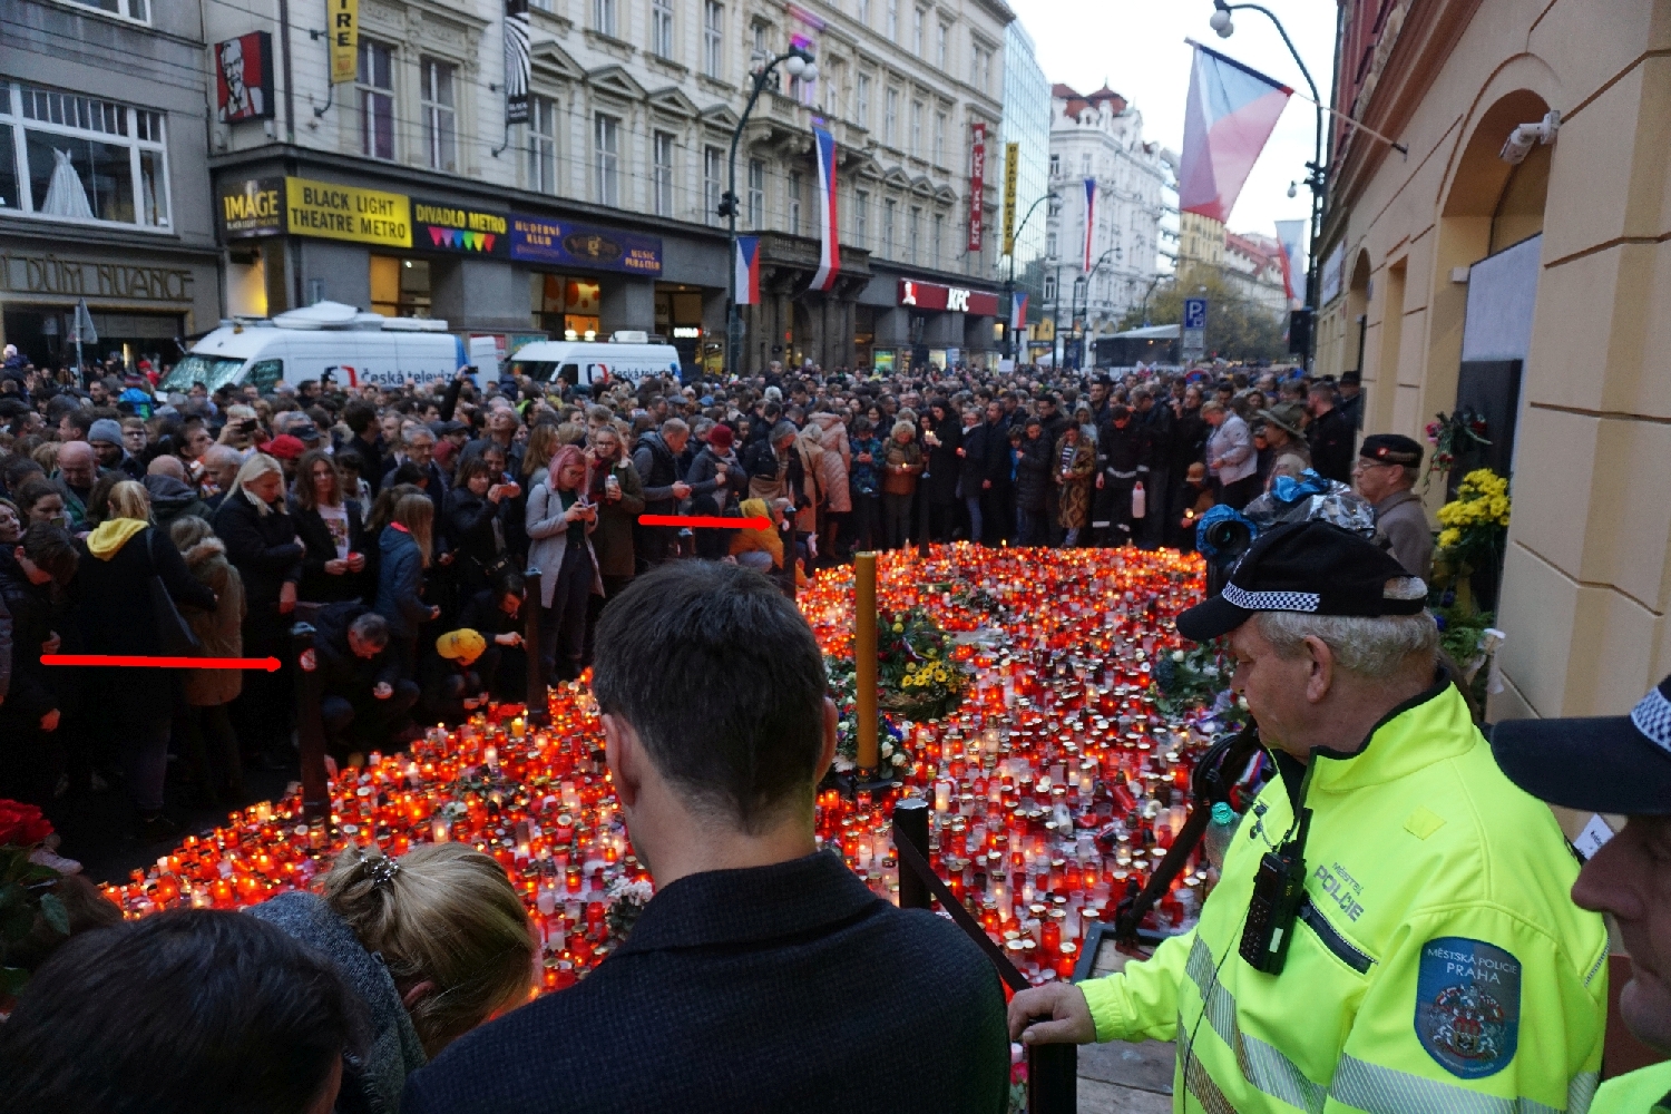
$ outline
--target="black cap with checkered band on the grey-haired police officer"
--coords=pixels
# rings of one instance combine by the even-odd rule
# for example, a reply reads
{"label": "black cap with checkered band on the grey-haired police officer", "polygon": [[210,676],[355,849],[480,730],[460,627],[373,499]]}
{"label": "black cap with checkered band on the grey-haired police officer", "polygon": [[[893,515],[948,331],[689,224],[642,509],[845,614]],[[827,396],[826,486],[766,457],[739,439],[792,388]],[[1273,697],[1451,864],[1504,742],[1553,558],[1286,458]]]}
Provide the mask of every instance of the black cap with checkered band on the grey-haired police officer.
{"label": "black cap with checkered band on the grey-haired police officer", "polygon": [[1211,641],[1258,611],[1380,618],[1419,615],[1427,585],[1389,553],[1323,521],[1263,533],[1242,556],[1225,591],[1178,616],[1178,633]]}

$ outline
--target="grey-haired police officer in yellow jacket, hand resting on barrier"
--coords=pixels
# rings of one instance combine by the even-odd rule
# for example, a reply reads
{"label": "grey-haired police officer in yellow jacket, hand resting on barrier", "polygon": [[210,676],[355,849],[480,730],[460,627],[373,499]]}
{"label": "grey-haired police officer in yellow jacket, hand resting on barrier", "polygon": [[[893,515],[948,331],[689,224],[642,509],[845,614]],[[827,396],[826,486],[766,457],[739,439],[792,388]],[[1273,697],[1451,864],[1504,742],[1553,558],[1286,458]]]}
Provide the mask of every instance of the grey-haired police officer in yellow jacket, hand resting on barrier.
{"label": "grey-haired police officer in yellow jacket, hand resting on barrier", "polygon": [[1424,600],[1374,544],[1310,521],[1263,534],[1178,616],[1195,641],[1230,635],[1280,777],[1193,932],[1018,994],[1013,1034],[1176,1041],[1176,1111],[1589,1107],[1608,935],[1566,897],[1577,862],[1554,817],[1437,668]]}

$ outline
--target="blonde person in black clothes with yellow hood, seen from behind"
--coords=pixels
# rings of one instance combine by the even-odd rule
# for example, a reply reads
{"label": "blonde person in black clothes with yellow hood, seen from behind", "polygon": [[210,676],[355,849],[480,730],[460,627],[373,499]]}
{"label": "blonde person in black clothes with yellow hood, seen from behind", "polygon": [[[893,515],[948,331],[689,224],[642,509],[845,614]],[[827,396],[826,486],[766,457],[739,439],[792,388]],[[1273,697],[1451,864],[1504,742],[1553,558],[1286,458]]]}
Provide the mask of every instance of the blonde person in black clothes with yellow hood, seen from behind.
{"label": "blonde person in black clothes with yellow hood, seen from behind", "polygon": [[[149,590],[162,581],[174,606],[214,611],[216,595],[197,583],[185,558],[150,524],[150,494],[132,479],[110,489],[110,513],[84,543],[70,581],[82,645],[94,655],[162,653],[160,626]],[[139,837],[164,840],[179,828],[162,815],[162,778],[169,765],[174,700],[170,676],[154,668],[89,670],[87,691],[105,710],[110,737],[122,740],[127,788],[139,813]]]}

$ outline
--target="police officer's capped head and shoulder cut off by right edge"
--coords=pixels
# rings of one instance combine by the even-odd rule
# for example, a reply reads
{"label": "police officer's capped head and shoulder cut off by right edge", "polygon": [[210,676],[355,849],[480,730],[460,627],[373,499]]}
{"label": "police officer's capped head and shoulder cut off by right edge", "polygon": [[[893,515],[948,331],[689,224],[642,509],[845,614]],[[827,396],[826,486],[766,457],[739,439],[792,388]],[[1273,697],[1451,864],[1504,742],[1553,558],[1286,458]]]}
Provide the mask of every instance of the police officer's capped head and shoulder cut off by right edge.
{"label": "police officer's capped head and shoulder cut off by right edge", "polygon": [[[1631,954],[1619,1017],[1671,1056],[1671,676],[1628,717],[1511,720],[1492,732],[1491,748],[1526,792],[1626,817],[1584,863],[1572,900],[1613,914]],[[1591,1114],[1671,1114],[1671,1061],[1601,1084]]]}

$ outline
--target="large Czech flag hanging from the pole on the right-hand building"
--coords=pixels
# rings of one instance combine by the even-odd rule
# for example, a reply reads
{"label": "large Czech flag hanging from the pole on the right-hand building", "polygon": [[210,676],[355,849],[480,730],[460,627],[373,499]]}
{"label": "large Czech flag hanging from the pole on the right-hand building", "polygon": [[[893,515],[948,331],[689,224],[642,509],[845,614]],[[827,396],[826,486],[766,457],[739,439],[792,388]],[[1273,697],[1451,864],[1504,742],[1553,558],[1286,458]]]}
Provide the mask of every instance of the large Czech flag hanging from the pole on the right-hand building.
{"label": "large Czech flag hanging from the pole on the right-hand building", "polygon": [[1225,222],[1293,90],[1201,43],[1183,112],[1178,209]]}

